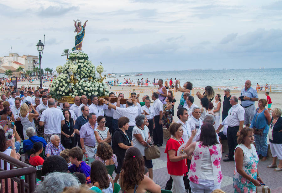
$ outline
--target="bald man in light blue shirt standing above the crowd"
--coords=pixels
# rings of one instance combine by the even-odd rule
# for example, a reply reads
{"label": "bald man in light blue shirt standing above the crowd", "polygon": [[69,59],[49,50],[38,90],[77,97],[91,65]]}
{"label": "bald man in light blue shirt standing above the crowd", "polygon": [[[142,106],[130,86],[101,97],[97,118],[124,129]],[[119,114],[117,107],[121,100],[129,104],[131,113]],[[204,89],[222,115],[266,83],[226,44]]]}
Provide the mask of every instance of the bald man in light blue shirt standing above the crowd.
{"label": "bald man in light blue shirt standing above the crowd", "polygon": [[258,92],[251,86],[251,81],[247,80],[245,82],[245,88],[241,91],[241,98],[238,98],[238,100],[241,101],[242,107],[245,109],[244,125],[246,125],[246,127],[249,127],[253,120],[254,114],[256,113],[254,103],[259,100]]}

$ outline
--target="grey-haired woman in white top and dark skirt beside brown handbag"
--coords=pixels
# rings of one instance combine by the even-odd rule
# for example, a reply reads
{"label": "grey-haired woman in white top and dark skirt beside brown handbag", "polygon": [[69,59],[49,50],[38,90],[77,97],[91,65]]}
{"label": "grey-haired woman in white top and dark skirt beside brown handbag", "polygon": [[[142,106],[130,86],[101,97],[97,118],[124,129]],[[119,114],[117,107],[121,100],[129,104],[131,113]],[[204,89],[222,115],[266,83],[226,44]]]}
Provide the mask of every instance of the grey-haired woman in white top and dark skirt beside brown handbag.
{"label": "grey-haired woman in white top and dark skirt beside brown handbag", "polygon": [[149,128],[146,126],[147,118],[145,115],[138,115],[135,118],[135,127],[132,130],[132,142],[133,146],[138,148],[144,157],[145,166],[148,168],[149,177],[153,180],[153,164],[152,160],[148,160],[145,157],[145,148],[150,147],[151,136]]}

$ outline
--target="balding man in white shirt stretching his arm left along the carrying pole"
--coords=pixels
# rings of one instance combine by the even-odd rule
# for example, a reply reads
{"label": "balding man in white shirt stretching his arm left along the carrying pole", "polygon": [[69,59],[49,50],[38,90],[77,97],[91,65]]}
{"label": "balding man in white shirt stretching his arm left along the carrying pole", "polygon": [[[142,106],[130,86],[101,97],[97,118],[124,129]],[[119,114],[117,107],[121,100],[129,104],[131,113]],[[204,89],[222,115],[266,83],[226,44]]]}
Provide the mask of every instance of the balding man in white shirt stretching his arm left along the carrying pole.
{"label": "balding man in white shirt stretching his arm left along the carrying pole", "polygon": [[[128,117],[129,118],[129,128],[126,131],[126,133],[130,136],[132,136],[132,130],[133,127],[135,126],[135,117],[138,115],[138,107],[136,105],[136,100],[134,100],[134,102],[131,99],[128,99],[126,101],[126,108],[121,108],[121,107],[117,107],[115,105],[112,105],[109,101],[103,99],[103,102],[108,106],[111,107],[112,109],[115,109],[119,114],[121,114],[124,117]],[[133,103],[135,104],[135,106],[133,107]]]}

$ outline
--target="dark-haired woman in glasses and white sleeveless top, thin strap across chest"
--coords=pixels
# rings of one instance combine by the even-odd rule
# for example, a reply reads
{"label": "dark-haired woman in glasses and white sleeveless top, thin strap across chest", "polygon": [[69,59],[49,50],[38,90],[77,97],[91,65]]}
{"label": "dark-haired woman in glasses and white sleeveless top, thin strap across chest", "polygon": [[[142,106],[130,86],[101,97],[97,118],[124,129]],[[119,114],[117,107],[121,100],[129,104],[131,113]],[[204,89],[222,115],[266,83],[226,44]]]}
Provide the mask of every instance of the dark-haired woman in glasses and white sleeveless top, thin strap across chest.
{"label": "dark-haired woman in glasses and white sleeveless top, thin strap across chest", "polygon": [[96,148],[101,142],[111,143],[112,141],[112,135],[110,134],[109,128],[105,127],[106,118],[102,115],[98,116],[97,123],[98,127],[94,129],[94,134],[96,138]]}

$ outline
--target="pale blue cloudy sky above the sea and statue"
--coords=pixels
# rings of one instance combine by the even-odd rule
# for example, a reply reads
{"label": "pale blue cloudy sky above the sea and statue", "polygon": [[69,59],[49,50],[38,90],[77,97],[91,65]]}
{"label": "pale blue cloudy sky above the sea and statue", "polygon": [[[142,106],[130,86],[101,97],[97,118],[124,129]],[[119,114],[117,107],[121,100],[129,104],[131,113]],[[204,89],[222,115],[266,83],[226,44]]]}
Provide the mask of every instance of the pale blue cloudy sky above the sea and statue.
{"label": "pale blue cloudy sky above the sea and statue", "polygon": [[38,55],[42,68],[65,64],[74,21],[86,23],[82,50],[107,72],[279,68],[282,1],[0,1],[0,56]]}

